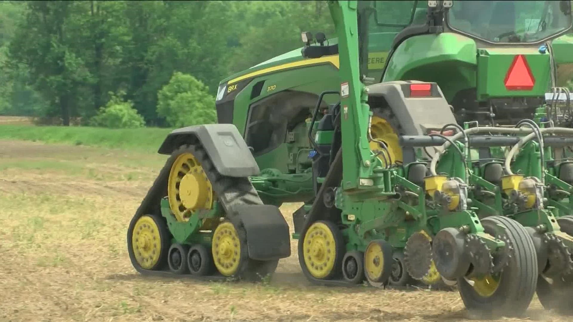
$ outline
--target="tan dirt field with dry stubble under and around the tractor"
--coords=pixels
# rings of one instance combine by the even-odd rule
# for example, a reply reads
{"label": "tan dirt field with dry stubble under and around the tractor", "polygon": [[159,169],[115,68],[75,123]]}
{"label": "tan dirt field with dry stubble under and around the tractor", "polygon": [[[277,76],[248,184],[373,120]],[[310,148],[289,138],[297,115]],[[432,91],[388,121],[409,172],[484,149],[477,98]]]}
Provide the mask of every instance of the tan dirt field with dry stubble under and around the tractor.
{"label": "tan dirt field with dry stubble under and around the tractor", "polygon": [[[465,321],[457,292],[323,288],[293,256],[268,284],[146,278],[125,234],[166,158],[0,141],[0,321]],[[291,220],[296,205],[282,211]],[[527,319],[569,321],[535,299]]]}

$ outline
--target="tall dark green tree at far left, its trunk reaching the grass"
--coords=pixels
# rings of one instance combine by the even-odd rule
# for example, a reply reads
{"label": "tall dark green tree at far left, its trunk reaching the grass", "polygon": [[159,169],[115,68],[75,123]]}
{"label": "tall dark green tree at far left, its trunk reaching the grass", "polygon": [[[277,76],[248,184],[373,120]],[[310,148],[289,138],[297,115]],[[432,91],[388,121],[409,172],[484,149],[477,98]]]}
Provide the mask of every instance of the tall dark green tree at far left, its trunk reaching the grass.
{"label": "tall dark green tree at far left, its trunk reaching the grass", "polygon": [[91,82],[84,61],[74,52],[73,1],[30,1],[26,17],[10,43],[9,59],[30,69],[34,88],[42,94],[50,109],[48,115],[60,115],[64,125],[76,107],[85,104],[82,86]]}

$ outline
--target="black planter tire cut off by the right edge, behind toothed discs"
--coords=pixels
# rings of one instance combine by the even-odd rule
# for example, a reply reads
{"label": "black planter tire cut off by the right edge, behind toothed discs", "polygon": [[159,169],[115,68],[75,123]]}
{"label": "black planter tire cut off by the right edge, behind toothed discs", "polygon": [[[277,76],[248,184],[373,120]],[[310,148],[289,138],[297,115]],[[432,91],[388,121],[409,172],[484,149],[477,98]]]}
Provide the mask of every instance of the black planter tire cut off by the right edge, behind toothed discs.
{"label": "black planter tire cut off by the right edge, behind toothed discs", "polygon": [[[573,235],[573,216],[563,216],[557,219],[561,231]],[[537,278],[537,297],[545,309],[550,309],[562,315],[573,315],[573,276],[557,276],[555,278]]]}

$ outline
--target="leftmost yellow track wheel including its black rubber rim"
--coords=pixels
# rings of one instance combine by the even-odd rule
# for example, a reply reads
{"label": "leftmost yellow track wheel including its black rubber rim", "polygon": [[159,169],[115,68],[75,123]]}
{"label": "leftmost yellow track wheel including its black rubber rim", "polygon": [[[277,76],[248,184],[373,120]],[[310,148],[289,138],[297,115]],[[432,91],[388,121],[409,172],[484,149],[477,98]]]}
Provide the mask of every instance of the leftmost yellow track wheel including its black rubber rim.
{"label": "leftmost yellow track wheel including its black rubber rim", "polygon": [[165,266],[171,235],[164,219],[158,215],[142,215],[131,221],[128,229],[128,252],[132,264],[143,269],[158,270]]}

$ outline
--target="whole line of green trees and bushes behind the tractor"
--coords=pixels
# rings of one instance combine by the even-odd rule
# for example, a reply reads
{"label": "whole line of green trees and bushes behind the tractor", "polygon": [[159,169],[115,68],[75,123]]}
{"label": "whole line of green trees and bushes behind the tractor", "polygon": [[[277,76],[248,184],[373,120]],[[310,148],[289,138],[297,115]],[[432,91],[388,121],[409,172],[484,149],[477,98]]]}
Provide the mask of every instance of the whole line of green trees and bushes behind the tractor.
{"label": "whole line of green trees and bushes behind the tractor", "polygon": [[332,33],[325,1],[2,1],[0,115],[214,121],[219,81],[308,30]]}

